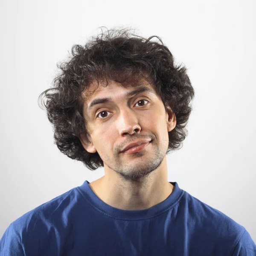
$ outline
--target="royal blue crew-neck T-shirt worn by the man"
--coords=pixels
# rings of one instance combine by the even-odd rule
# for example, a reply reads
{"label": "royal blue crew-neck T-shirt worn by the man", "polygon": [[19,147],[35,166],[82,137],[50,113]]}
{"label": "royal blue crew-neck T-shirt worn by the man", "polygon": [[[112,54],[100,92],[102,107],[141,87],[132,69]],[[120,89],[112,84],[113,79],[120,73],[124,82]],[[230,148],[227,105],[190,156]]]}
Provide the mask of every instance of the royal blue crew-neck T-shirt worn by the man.
{"label": "royal blue crew-neck T-shirt worn by the man", "polygon": [[13,221],[0,256],[256,256],[243,226],[170,183],[160,204],[122,210],[85,180]]}

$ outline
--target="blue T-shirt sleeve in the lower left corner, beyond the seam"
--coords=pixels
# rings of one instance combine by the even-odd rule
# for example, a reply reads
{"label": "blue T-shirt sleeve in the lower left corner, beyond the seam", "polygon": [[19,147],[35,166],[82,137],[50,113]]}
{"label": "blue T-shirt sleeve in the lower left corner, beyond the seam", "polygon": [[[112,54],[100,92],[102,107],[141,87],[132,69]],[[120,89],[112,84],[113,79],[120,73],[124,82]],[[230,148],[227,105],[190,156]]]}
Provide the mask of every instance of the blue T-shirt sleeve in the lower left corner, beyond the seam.
{"label": "blue T-shirt sleeve in the lower left corner, beyond the seam", "polygon": [[15,232],[13,223],[9,225],[0,240],[0,256],[24,256],[20,236]]}

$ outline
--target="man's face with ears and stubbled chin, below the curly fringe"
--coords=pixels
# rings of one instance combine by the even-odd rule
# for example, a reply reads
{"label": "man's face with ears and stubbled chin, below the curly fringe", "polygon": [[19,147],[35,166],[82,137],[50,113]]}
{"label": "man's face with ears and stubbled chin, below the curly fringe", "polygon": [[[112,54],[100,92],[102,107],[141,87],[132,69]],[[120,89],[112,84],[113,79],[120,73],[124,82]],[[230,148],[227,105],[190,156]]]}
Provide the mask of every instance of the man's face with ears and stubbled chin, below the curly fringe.
{"label": "man's face with ears and stubbled chin, below the curly fringe", "polygon": [[[134,92],[142,87],[145,90]],[[89,90],[94,88],[96,84],[92,84]],[[96,99],[106,97],[111,101],[98,101],[91,107]],[[83,112],[89,135],[81,134],[80,141],[88,152],[98,152],[105,172],[110,169],[124,180],[142,180],[166,157],[168,131],[175,128],[176,118],[171,108],[168,107],[166,113],[160,96],[147,81],[129,88],[115,81],[105,87],[99,84],[93,95],[85,100]],[[138,140],[151,141],[138,152],[121,152]]]}

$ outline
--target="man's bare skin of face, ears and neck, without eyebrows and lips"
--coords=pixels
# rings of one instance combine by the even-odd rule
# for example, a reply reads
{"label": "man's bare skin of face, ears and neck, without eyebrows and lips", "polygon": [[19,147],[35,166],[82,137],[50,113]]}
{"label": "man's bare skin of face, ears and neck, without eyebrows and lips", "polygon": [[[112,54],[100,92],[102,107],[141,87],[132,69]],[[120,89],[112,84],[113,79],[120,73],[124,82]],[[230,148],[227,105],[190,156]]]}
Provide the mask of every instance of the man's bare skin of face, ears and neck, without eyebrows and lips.
{"label": "man's bare skin of face, ears and neck, without eyebrows and lips", "polygon": [[[86,89],[97,88],[84,100],[88,133],[80,134],[79,139],[85,150],[98,152],[105,170],[105,175],[89,186],[102,201],[118,209],[148,209],[166,200],[174,189],[168,182],[166,151],[168,132],[176,125],[175,113],[169,106],[166,113],[152,84],[144,79],[142,84],[153,92],[128,99],[125,93],[136,87],[125,88],[115,81],[110,81],[107,87],[99,84],[98,88],[94,82]],[[88,113],[93,99],[106,96],[113,98],[113,103],[96,105]],[[143,139],[152,140],[143,150],[121,153],[128,144]]]}

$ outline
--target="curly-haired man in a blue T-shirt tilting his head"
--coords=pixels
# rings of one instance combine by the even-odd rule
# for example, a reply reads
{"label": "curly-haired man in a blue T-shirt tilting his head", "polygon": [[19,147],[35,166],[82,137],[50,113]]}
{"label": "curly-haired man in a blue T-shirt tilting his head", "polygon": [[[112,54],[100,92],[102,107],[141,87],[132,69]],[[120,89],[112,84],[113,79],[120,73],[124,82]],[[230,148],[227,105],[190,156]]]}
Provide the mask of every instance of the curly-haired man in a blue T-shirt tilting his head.
{"label": "curly-haired man in a blue T-shirt tilting his head", "polygon": [[194,90],[151,39],[111,30],[59,66],[44,92],[55,143],[105,175],[13,221],[0,255],[256,255],[243,226],[167,180],[166,154],[186,137]]}

